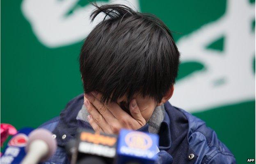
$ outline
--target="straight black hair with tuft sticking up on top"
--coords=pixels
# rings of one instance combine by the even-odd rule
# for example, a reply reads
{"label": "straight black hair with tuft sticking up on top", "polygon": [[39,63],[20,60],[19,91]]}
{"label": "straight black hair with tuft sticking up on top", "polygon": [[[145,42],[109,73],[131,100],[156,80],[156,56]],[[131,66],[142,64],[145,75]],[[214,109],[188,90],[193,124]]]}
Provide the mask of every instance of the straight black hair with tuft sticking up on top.
{"label": "straight black hair with tuft sticking up on top", "polygon": [[80,72],[85,93],[99,91],[103,103],[135,93],[160,103],[175,83],[179,52],[168,27],[153,14],[125,5],[97,6],[90,18],[104,13],[85,39]]}

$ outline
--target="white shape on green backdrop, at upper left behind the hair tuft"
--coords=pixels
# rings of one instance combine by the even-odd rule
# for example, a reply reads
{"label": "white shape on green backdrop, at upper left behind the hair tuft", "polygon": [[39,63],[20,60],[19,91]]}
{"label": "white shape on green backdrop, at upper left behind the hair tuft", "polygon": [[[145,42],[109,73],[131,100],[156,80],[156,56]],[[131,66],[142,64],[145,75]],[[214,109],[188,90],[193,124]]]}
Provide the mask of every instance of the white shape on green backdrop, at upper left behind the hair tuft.
{"label": "white shape on green backdrop, at upper left behind the hair tuft", "polygon": [[[30,22],[37,39],[45,46],[57,48],[82,41],[93,27],[104,18],[99,14],[91,23],[89,15],[95,9],[92,5],[81,7],[79,0],[23,0],[21,10]],[[98,1],[99,5],[106,2]],[[139,8],[137,0],[110,0],[109,3]],[[69,16],[69,11],[73,10]]]}

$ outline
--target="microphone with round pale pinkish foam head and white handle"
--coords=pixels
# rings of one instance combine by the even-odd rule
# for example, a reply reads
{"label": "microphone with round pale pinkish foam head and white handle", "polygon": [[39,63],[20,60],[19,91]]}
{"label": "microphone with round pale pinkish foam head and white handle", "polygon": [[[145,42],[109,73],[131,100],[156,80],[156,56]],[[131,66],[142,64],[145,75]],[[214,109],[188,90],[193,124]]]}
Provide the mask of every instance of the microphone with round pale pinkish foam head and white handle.
{"label": "microphone with round pale pinkish foam head and white handle", "polygon": [[25,150],[27,155],[21,164],[37,164],[50,158],[57,149],[57,142],[52,133],[39,128],[30,133]]}

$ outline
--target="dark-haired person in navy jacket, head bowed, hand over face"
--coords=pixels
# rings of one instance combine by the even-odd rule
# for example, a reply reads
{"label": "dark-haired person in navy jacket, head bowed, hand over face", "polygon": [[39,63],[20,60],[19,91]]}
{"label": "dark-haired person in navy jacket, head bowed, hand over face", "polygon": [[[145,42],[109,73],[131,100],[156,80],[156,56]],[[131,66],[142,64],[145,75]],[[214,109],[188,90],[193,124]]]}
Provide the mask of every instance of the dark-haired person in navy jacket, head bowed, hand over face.
{"label": "dark-haired person in navy jacket, head bowed, hand over face", "polygon": [[58,143],[48,162],[69,163],[64,146],[83,127],[108,134],[121,128],[158,134],[161,164],[234,164],[213,130],[168,102],[180,54],[167,26],[152,14],[123,5],[97,7],[92,21],[100,13],[106,16],[80,53],[85,94],[41,125]]}

